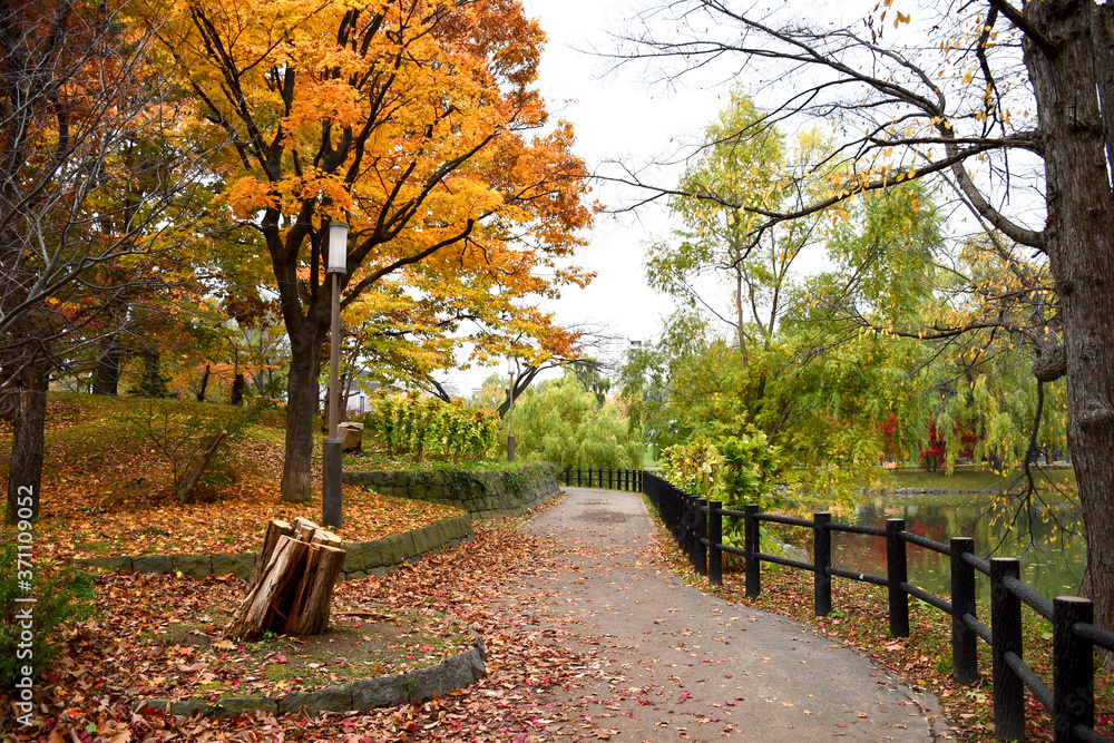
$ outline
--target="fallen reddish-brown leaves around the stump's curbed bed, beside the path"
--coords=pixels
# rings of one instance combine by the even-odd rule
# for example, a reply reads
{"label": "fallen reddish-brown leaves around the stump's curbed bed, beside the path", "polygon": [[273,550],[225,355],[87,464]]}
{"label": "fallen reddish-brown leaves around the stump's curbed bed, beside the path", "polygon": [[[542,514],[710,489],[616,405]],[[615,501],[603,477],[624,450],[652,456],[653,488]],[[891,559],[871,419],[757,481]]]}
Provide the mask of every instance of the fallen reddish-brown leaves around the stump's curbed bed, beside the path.
{"label": "fallen reddish-brown leaves around the stump's curbed bed, beside the path", "polygon": [[[553,692],[567,693],[592,672],[585,656],[565,645],[559,630],[517,608],[528,607],[529,600],[508,606],[502,597],[508,585],[563,569],[557,545],[505,527],[481,528],[473,540],[383,578],[339,584],[336,606],[436,610],[468,623],[483,639],[488,675],[469,690],[421,706],[313,720],[254,713],[217,721],[131,712],[137,698],[167,688],[173,678],[186,680],[178,690],[183,694],[218,678],[207,658],[219,658],[223,652],[227,659],[236,651],[216,647],[205,655],[182,644],[162,644],[159,638],[175,619],[180,623],[206,607],[234,607],[244,584],[233,578],[104,576],[97,590],[99,618],[69,629],[66,651],[51,675],[40,681],[37,701],[46,716],[39,727],[21,730],[16,740],[555,740],[569,723],[568,710],[554,703]],[[277,656],[274,662],[278,663]],[[172,676],[172,667],[178,675]],[[256,674],[244,677],[248,675]],[[11,710],[9,701],[3,702]],[[10,720],[0,722],[12,729]]]}

